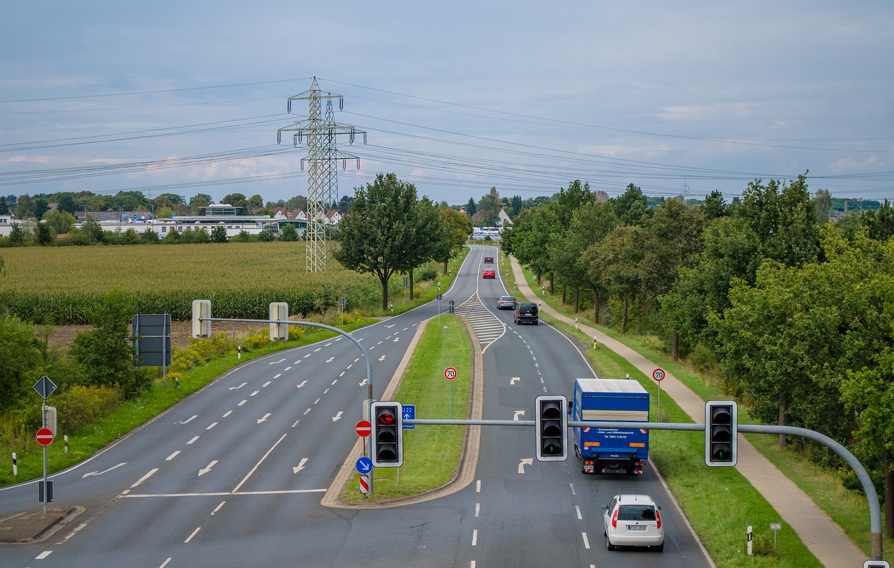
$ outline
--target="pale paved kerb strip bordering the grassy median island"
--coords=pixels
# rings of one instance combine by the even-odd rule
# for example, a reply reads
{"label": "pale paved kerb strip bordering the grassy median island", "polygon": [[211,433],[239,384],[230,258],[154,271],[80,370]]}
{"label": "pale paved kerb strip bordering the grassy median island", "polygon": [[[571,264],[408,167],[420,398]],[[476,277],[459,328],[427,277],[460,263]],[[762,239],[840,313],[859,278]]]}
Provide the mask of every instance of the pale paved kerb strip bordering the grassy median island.
{"label": "pale paved kerb strip bordering the grassy median island", "polygon": [[[466,332],[468,333],[469,338],[474,338],[475,333],[474,330],[472,330],[471,323],[468,322],[468,318],[466,318],[466,316],[464,315],[460,315],[460,320],[466,327]],[[382,396],[383,400],[391,400],[394,396],[394,393],[397,391],[397,388],[401,385],[401,379],[403,379],[404,373],[407,372],[409,361],[412,358],[413,353],[416,351],[417,344],[419,343],[419,338],[422,337],[423,332],[426,330],[428,322],[431,322],[431,320],[422,322],[417,326],[416,334],[410,340],[409,347],[407,347],[407,352],[403,355],[401,363],[394,371],[392,379],[388,382],[388,386],[385,388],[384,394]],[[469,420],[481,420],[481,418],[484,416],[484,373],[484,356],[481,352],[481,345],[473,339],[471,384],[472,391],[471,405],[469,406],[468,412]],[[341,497],[344,490],[348,487],[348,483],[350,483],[351,478],[353,478],[354,472],[357,471],[357,460],[360,458],[360,456],[363,455],[363,439],[358,439],[357,442],[354,444],[354,447],[351,448],[348,456],[345,458],[341,469],[333,479],[333,482],[329,486],[329,489],[326,490],[323,499],[320,501],[320,505],[342,509],[381,509],[384,507],[395,507],[401,505],[411,505],[414,503],[422,503],[425,501],[436,499],[438,497],[451,495],[451,493],[456,493],[460,489],[468,487],[472,480],[475,479],[475,468],[478,462],[478,452],[480,447],[481,426],[467,426],[465,442],[462,448],[462,455],[460,456],[460,467],[457,469],[456,475],[453,476],[453,479],[445,483],[443,486],[437,489],[432,489],[431,491],[427,491],[426,493],[420,495],[415,495],[412,497],[401,497],[399,499],[390,499],[387,501],[342,502],[339,501],[339,497]],[[375,492],[375,479],[373,480],[373,491]]]}

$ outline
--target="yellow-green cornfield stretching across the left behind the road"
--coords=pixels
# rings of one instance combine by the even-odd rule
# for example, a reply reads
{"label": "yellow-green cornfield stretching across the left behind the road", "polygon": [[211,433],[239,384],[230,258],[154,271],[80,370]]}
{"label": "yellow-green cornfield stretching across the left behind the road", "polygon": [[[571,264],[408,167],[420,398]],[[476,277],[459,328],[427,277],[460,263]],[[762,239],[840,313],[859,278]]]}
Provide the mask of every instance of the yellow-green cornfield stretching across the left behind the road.
{"label": "yellow-green cornfield stretching across the left behind the road", "polygon": [[[89,312],[119,288],[134,313],[189,320],[192,300],[211,300],[215,317],[266,319],[271,302],[289,312],[323,313],[381,301],[379,281],[329,261],[305,272],[303,242],[178,246],[30,246],[4,248],[0,305],[23,320],[89,323]],[[392,279],[393,284],[397,280]]]}

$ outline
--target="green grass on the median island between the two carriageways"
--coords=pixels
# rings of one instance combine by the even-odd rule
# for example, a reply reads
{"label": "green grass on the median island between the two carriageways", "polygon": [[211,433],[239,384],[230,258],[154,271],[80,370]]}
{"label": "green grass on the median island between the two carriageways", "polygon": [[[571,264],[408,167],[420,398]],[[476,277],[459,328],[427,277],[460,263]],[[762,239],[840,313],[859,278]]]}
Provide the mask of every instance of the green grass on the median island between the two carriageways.
{"label": "green grass on the median island between the two carriageways", "polygon": [[[456,379],[444,378],[453,367]],[[401,384],[392,397],[416,405],[416,417],[430,420],[464,420],[471,401],[472,343],[458,315],[430,320],[422,331]],[[373,494],[359,491],[359,474],[351,478],[340,498],[343,502],[382,502],[421,495],[450,482],[457,474],[465,426],[418,425],[403,430],[403,465],[377,467]]]}

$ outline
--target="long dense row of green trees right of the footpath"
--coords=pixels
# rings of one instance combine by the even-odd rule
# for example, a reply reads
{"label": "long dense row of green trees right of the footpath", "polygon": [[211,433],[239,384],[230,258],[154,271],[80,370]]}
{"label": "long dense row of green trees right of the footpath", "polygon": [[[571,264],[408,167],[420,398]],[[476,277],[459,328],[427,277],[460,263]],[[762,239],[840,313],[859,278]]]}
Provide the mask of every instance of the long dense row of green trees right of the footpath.
{"label": "long dense row of green trees right of the footpath", "polygon": [[848,445],[884,475],[892,535],[894,212],[820,222],[827,198],[799,176],[755,180],[731,205],[714,192],[650,207],[632,184],[606,199],[574,181],[502,245],[576,311],[658,335],[764,421]]}

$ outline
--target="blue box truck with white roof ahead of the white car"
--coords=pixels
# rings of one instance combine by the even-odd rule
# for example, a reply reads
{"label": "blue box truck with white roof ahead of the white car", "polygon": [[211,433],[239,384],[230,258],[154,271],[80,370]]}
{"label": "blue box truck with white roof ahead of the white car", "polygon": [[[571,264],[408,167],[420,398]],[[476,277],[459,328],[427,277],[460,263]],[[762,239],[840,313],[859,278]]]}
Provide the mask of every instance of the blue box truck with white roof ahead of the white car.
{"label": "blue box truck with white roof ahead of the white car", "polygon": [[[649,393],[636,380],[578,379],[569,407],[580,422],[649,422]],[[584,473],[639,475],[649,455],[649,430],[574,428],[574,453]]]}

